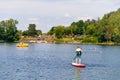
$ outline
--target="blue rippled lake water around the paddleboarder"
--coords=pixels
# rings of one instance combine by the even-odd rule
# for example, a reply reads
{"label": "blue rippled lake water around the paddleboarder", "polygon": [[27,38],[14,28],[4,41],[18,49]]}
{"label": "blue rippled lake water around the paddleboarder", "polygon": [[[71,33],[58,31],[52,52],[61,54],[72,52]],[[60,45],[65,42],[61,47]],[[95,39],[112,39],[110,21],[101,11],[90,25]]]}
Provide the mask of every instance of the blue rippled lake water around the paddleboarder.
{"label": "blue rippled lake water around the paddleboarder", "polygon": [[120,46],[80,45],[86,68],[71,66],[73,44],[0,43],[0,80],[119,80]]}

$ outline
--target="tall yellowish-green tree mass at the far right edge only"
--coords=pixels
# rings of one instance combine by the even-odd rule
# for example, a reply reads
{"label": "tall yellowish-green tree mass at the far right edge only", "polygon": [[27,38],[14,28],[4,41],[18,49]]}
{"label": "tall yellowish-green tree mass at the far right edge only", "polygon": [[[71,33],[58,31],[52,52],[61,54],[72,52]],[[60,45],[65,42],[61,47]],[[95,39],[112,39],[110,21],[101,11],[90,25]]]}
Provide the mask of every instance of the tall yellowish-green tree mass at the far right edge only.
{"label": "tall yellowish-green tree mass at the far right edge only", "polygon": [[100,42],[120,42],[120,11],[105,14],[97,24]]}

